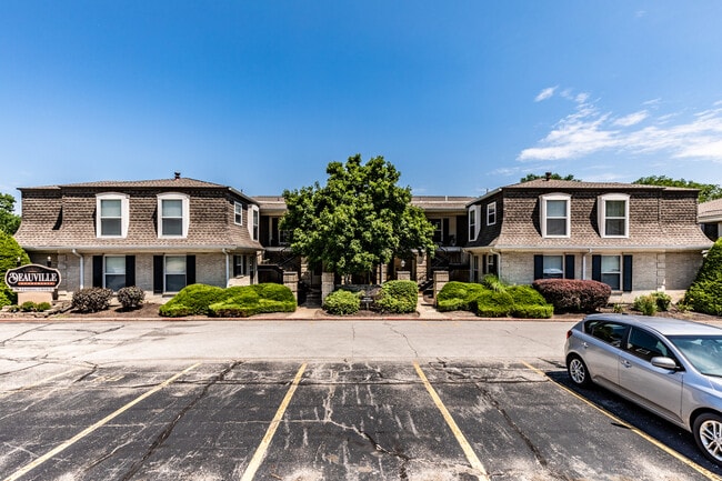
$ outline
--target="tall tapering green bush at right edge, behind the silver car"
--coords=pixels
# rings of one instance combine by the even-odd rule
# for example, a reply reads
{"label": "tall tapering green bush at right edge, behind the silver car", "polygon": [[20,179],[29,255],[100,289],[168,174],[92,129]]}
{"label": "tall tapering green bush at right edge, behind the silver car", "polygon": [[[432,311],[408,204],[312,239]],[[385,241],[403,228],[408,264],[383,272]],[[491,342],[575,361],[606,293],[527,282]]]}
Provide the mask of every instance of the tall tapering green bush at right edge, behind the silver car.
{"label": "tall tapering green bush at right edge, behind the silver car", "polygon": [[706,253],[683,304],[696,312],[722,315],[722,238]]}

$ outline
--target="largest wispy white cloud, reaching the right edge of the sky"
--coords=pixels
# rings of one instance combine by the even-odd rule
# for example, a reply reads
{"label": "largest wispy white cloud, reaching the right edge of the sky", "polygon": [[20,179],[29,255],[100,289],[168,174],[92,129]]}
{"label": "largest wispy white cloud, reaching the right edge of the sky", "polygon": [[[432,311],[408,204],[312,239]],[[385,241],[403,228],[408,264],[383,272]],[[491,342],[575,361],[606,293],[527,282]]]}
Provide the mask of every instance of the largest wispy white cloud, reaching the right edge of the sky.
{"label": "largest wispy white cloud, reaching the right edge of the sky", "polygon": [[[566,92],[563,97],[576,103],[575,110],[556,122],[537,146],[522,150],[518,160],[579,159],[613,151],[722,162],[722,104],[683,120],[681,113],[654,117],[646,109],[615,114],[601,111],[588,94]],[[645,102],[653,103],[658,101]]]}

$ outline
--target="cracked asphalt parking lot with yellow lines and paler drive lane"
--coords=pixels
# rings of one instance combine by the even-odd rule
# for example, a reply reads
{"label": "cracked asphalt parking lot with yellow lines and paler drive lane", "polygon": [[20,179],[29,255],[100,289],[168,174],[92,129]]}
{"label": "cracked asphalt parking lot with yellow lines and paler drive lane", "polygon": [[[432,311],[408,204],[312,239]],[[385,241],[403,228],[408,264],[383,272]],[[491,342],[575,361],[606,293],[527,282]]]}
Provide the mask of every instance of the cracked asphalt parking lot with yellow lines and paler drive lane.
{"label": "cracked asphalt parking lot with yellow lines and paler drive lane", "polygon": [[[0,479],[719,479],[690,434],[568,384],[568,325],[443,324],[1,323]],[[505,354],[459,349],[489,337]]]}

